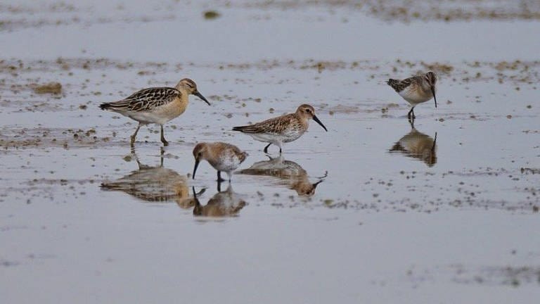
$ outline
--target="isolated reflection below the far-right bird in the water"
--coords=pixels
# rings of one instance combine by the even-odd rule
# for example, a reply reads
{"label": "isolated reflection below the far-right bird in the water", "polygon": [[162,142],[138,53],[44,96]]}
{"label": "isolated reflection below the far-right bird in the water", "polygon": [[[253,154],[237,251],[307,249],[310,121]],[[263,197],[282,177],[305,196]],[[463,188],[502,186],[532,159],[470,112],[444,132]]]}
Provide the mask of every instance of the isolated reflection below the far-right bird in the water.
{"label": "isolated reflection below the far-right bird in the water", "polygon": [[418,158],[426,165],[432,167],[437,163],[437,132],[435,139],[418,132],[411,123],[411,132],[401,137],[399,141],[390,148],[390,153],[404,153],[411,158]]}

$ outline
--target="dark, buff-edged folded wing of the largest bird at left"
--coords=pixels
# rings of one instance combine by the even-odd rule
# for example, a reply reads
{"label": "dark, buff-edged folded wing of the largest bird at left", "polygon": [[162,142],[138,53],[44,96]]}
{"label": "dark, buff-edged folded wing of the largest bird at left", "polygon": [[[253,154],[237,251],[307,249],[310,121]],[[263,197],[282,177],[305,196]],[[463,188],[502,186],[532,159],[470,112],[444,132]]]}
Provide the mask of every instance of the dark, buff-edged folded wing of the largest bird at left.
{"label": "dark, buff-edged folded wing of the largest bird at left", "polygon": [[166,105],[179,97],[181,91],[171,87],[154,87],[141,89],[121,101],[102,103],[102,110],[148,112],[159,106]]}

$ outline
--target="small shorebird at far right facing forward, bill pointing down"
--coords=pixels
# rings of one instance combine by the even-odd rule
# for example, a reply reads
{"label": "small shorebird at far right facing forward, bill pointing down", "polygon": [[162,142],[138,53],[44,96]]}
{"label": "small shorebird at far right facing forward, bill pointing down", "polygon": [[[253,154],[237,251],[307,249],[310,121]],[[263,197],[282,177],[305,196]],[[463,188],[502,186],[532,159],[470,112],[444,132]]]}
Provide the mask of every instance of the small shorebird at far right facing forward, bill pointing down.
{"label": "small shorebird at far right facing forward, bill pointing down", "polygon": [[408,101],[413,108],[407,113],[407,118],[414,120],[414,107],[419,103],[425,103],[432,97],[437,108],[437,98],[435,97],[435,84],[437,75],[434,72],[427,72],[425,75],[413,76],[404,80],[390,79],[386,83],[392,87],[399,96]]}

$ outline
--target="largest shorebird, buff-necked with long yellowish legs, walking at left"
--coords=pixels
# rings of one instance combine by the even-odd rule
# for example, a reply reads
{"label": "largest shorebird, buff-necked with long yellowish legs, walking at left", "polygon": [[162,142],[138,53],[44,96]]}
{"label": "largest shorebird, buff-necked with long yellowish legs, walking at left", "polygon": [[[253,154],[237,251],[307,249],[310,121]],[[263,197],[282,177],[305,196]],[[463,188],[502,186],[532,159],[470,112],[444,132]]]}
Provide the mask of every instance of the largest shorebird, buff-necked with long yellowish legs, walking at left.
{"label": "largest shorebird, buff-necked with long yellowish legs, walking at left", "polygon": [[101,103],[101,110],[112,110],[139,122],[137,129],[131,135],[131,146],[135,143],[137,132],[141,125],[155,123],[160,125],[161,142],[168,146],[169,142],[163,135],[163,125],[165,122],[177,118],[184,113],[188,106],[188,95],[193,94],[203,99],[208,106],[210,103],[203,94],[197,90],[197,84],[193,80],[184,78],[180,80],[176,87],[152,87],[141,89],[126,99],[111,103]]}

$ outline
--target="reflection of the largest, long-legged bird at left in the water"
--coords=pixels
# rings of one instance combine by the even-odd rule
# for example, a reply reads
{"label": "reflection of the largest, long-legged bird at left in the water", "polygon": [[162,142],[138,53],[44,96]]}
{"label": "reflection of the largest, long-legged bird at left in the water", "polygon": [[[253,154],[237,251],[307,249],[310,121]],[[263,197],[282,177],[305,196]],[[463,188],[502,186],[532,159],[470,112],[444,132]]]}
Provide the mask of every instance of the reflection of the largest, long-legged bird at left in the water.
{"label": "reflection of the largest, long-legged bird at left in the water", "polygon": [[101,189],[122,191],[145,202],[175,201],[182,208],[192,208],[195,202],[189,195],[187,177],[163,167],[164,152],[163,148],[160,148],[160,165],[153,167],[141,164],[135,150],[132,149],[131,154],[139,169],[115,181],[103,182]]}

